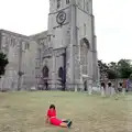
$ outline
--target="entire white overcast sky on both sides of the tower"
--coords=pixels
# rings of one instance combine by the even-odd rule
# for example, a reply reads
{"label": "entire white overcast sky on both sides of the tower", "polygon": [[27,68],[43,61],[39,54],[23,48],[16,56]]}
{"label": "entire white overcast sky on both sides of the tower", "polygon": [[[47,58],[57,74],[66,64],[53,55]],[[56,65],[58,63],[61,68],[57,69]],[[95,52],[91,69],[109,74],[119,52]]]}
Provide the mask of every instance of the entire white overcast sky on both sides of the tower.
{"label": "entire white overcast sky on both sides of the tower", "polygon": [[[47,30],[50,0],[0,0],[0,29],[32,35]],[[132,0],[92,0],[98,58],[132,59]]]}

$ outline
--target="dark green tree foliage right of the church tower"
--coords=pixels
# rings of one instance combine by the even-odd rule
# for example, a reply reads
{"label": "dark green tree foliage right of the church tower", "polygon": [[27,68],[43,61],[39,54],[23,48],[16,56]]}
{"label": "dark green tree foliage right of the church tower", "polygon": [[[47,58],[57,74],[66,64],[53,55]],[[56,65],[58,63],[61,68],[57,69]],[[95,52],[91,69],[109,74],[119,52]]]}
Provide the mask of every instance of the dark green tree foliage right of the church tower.
{"label": "dark green tree foliage right of the church tower", "polygon": [[132,74],[132,64],[130,59],[120,59],[118,63],[111,62],[109,64],[98,61],[100,69],[100,78],[116,79],[129,78]]}

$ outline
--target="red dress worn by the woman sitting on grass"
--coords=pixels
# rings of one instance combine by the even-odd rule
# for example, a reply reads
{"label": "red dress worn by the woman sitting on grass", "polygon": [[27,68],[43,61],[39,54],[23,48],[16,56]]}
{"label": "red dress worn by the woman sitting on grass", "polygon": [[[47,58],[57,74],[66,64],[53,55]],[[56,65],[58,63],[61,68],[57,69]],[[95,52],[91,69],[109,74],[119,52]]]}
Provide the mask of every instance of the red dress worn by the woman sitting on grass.
{"label": "red dress worn by the woman sitting on grass", "polygon": [[47,117],[50,118],[50,122],[54,125],[61,125],[61,123],[63,122],[62,120],[56,118],[56,110],[54,109],[50,109],[47,111]]}

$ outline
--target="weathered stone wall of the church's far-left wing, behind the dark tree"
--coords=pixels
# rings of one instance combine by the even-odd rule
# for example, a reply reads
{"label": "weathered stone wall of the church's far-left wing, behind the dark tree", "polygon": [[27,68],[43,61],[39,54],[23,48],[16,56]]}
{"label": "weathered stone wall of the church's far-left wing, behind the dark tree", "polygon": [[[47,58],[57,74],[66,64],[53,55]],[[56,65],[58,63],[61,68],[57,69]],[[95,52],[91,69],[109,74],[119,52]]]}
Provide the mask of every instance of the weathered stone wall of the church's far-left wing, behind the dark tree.
{"label": "weathered stone wall of the church's far-left wing, behind the dark tree", "polygon": [[34,86],[36,42],[6,30],[0,30],[0,51],[7,54],[9,59],[0,88],[16,90]]}

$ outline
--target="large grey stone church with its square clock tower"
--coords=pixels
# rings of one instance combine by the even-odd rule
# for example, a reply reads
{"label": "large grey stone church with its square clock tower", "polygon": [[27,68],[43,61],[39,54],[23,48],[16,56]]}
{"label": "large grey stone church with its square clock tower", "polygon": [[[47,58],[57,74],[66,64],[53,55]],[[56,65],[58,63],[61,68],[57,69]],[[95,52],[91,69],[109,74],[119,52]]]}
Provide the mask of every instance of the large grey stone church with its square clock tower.
{"label": "large grey stone church with its square clock tower", "polygon": [[88,90],[98,80],[92,0],[50,0],[48,30],[0,30],[0,51],[9,58],[1,89]]}

